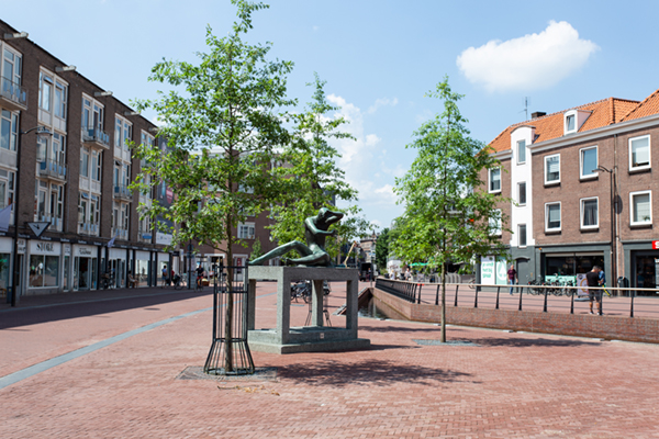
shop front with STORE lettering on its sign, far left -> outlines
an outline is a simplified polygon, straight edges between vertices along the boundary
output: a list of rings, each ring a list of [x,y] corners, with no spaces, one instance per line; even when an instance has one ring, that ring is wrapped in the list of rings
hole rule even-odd
[[[33,239],[30,240],[29,248],[27,289],[33,294],[47,294],[59,290],[62,244]]]

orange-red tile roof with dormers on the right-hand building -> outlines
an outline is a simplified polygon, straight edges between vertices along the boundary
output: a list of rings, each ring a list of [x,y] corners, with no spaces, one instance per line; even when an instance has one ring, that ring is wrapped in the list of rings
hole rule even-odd
[[[550,140],[563,135],[563,113],[570,110],[585,110],[592,112],[579,128],[579,133],[601,128],[623,121],[630,121],[638,117],[659,113],[659,90],[655,91],[643,102],[628,99],[608,98],[601,101],[574,106],[557,113],[533,119],[530,121],[520,122],[505,128],[490,146],[495,151],[511,149],[511,133],[520,126],[535,126],[536,138],[534,143]]]

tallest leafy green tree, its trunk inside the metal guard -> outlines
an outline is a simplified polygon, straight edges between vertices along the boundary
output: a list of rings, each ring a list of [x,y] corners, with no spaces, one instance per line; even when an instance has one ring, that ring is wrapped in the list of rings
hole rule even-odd
[[[176,225],[172,246],[194,240],[223,251],[233,261],[238,223],[276,202],[281,188],[270,171],[277,145],[289,143],[281,109],[294,104],[287,98],[287,75],[292,63],[268,59],[270,44],[247,44],[243,36],[253,27],[252,14],[264,3],[232,0],[237,20],[227,36],[206,29],[208,53],[199,64],[164,59],[155,65],[150,81],[169,86],[155,100],[137,101],[138,111],[153,109],[164,123],[159,136],[168,151],[156,146],[135,146],[147,165],[134,188],[143,192],[166,182],[174,202],[165,207],[142,205],[142,216],[161,216]],[[228,270],[227,280],[233,282]],[[233,363],[233,299],[225,307],[225,372]]]

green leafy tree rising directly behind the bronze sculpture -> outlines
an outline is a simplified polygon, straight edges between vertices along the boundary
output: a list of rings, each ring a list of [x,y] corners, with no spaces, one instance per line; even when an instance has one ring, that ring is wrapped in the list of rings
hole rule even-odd
[[[271,206],[275,223],[269,227],[278,244],[293,240],[304,241],[304,219],[316,216],[321,207],[334,207],[336,201],[355,202],[357,191],[345,180],[345,172],[336,165],[339,153],[331,145],[336,139],[354,139],[339,128],[347,123],[343,116],[333,116],[339,108],[327,102],[325,81],[314,74],[312,101],[304,111],[292,115],[294,121],[292,139],[283,146],[278,177],[286,180],[282,200]],[[358,214],[357,205],[343,209],[346,216],[334,225],[340,240],[366,236],[371,224]],[[339,240],[330,239],[326,250],[337,255]]]

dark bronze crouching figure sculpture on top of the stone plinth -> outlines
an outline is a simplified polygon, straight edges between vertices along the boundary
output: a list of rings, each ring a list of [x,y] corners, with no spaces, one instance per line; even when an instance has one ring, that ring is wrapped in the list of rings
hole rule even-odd
[[[332,267],[332,258],[325,251],[325,238],[335,236],[336,230],[328,232],[327,229],[334,223],[338,223],[344,214],[333,212],[327,207],[319,211],[316,216],[310,216],[304,219],[304,237],[306,245],[293,240],[268,251],[260,258],[249,262],[250,266],[263,266],[266,261],[283,256],[291,250],[298,251],[301,257],[295,259],[282,259],[284,264],[298,264],[302,267]]]

